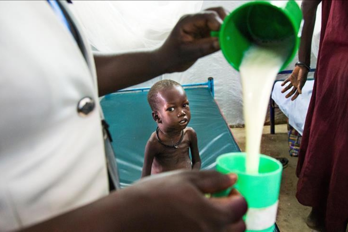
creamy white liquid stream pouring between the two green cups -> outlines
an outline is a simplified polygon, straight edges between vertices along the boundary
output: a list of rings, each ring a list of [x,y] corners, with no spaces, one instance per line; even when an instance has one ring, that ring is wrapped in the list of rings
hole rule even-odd
[[[243,114],[246,131],[246,172],[259,172],[260,145],[267,106],[274,80],[285,61],[283,46],[253,45],[246,51],[239,71],[243,87]]]

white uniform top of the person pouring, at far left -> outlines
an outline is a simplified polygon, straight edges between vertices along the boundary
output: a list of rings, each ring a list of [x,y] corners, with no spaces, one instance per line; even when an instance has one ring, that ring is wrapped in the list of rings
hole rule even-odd
[[[0,231],[108,194],[93,68],[46,1],[0,1]]]

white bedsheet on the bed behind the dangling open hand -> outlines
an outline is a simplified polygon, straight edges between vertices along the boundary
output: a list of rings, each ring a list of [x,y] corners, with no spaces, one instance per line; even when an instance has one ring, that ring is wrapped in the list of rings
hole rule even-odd
[[[312,96],[314,80],[306,81],[302,89],[302,94],[300,94],[295,101],[291,101],[291,97],[285,98],[285,95],[290,92],[291,89],[282,94],[281,91],[284,88],[280,86],[282,82],[283,81],[277,81],[274,84],[272,99],[286,117],[288,117],[289,124],[302,135],[309,101]]]

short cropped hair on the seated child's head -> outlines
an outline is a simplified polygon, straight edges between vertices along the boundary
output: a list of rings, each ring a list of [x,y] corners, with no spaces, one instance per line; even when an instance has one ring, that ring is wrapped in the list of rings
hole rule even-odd
[[[160,80],[156,82],[148,93],[148,102],[152,111],[158,110],[158,97],[157,94],[163,89],[172,88],[175,86],[181,86],[178,82],[173,80]]]

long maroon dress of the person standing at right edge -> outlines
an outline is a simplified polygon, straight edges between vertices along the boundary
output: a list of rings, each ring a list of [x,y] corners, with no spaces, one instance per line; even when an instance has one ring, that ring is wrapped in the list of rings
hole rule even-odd
[[[296,198],[326,207],[327,231],[348,220],[348,1],[322,1],[313,94],[301,141]]]

